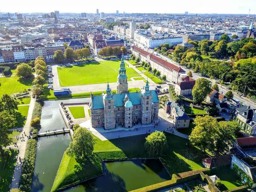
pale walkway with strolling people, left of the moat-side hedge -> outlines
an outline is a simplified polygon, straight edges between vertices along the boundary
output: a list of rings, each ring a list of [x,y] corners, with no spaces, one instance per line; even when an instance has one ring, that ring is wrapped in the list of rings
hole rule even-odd
[[[29,109],[28,109],[27,121],[23,127],[23,131],[21,132],[21,134],[24,135],[24,139],[23,140],[19,139],[17,142],[17,146],[18,146],[20,152],[17,156],[17,162],[16,162],[16,166],[15,166],[14,172],[13,172],[11,189],[19,187],[19,181],[20,181],[20,176],[21,176],[21,171],[22,171],[22,164],[23,164],[23,159],[25,156],[25,151],[26,151],[27,141],[28,141],[27,135],[29,135],[30,121],[32,119],[32,113],[33,113],[33,109],[35,107],[35,103],[36,103],[36,99],[31,97],[31,101],[30,101]],[[21,136],[20,136],[20,138],[21,138]]]

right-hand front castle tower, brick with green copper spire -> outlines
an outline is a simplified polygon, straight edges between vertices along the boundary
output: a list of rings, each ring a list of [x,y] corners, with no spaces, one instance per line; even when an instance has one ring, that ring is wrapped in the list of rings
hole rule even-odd
[[[141,92],[141,123],[149,124],[152,120],[152,93],[149,91],[148,80]]]

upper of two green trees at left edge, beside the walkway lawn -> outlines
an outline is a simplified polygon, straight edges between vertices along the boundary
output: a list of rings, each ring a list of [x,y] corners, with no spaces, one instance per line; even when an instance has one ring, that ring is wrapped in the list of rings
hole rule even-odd
[[[0,100],[0,112],[6,110],[10,114],[14,114],[18,110],[18,102],[10,95],[4,94]]]

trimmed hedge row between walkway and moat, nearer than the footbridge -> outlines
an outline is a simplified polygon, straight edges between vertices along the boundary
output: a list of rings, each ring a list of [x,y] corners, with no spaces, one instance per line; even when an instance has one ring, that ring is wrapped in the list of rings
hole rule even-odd
[[[32,179],[36,162],[36,140],[29,139],[20,177],[20,189],[25,192],[31,191]]]

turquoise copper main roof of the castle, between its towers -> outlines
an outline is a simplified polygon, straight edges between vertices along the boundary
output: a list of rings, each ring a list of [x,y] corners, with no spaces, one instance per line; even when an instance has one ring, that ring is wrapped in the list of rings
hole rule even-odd
[[[111,94],[107,97],[108,99],[114,99],[115,107],[123,107],[124,106],[124,98],[125,95],[128,95],[132,105],[140,105],[141,104],[141,92],[132,92],[132,93],[121,93],[121,94]],[[158,103],[158,95],[155,90],[150,90],[147,92],[148,95],[152,95],[153,103]],[[103,109],[103,97],[100,96],[93,96],[92,98],[92,108],[93,109]]]

